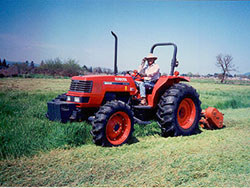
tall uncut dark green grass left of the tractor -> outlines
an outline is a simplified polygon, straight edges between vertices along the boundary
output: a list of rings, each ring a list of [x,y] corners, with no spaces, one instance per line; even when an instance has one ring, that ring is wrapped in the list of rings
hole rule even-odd
[[[46,119],[47,101],[54,97],[20,91],[0,93],[0,158],[91,143],[87,123],[62,124]]]

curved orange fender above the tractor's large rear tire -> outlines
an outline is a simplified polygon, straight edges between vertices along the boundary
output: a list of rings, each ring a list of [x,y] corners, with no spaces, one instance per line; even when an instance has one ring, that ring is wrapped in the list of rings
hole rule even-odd
[[[157,106],[163,93],[172,85],[181,81],[190,82],[189,77],[185,76],[161,76],[156,82],[152,94],[148,95],[148,105],[153,108]]]

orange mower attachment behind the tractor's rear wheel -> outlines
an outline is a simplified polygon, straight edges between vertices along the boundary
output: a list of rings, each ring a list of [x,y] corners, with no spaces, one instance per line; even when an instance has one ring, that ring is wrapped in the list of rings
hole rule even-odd
[[[223,115],[216,108],[208,107],[201,112],[200,126],[204,129],[221,129],[223,127]]]

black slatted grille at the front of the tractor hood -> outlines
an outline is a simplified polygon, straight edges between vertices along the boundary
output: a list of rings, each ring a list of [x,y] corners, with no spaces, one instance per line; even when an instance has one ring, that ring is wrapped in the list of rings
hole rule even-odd
[[[92,86],[92,81],[72,80],[70,85],[70,91],[91,93]]]

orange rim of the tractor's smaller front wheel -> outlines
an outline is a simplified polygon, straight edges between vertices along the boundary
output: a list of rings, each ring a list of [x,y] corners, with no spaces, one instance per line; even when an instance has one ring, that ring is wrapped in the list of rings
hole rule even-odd
[[[116,112],[108,120],[106,137],[113,145],[122,144],[129,136],[131,121],[125,112]]]

